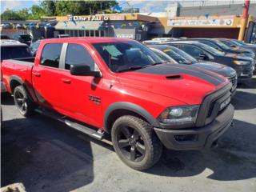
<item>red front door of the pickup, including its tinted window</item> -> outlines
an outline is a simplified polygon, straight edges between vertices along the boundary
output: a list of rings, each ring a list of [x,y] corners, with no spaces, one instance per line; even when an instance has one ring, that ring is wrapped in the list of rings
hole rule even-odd
[[[90,66],[99,71],[94,58],[86,46],[77,43],[65,45],[66,56],[62,65],[62,109],[72,118],[90,125],[100,126],[102,117],[102,78],[70,74],[70,66]]]

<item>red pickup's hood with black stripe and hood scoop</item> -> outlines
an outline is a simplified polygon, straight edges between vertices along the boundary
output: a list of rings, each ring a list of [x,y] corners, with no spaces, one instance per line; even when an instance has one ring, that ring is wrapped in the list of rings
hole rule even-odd
[[[206,94],[228,83],[218,74],[194,66],[166,63],[118,74],[123,86],[145,90],[190,105],[200,104]]]

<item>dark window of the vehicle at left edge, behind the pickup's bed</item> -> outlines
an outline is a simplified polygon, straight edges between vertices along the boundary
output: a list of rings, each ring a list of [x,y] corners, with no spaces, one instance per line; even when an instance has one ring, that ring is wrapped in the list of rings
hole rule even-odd
[[[1,46],[1,60],[30,57],[32,57],[32,54],[28,46]]]

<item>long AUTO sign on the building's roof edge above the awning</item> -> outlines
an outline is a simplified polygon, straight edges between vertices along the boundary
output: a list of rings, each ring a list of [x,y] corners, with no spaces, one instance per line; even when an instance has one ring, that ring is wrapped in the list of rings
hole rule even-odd
[[[73,16],[67,15],[68,21],[107,21],[107,20],[125,20],[122,14],[114,15],[94,15],[94,16]]]

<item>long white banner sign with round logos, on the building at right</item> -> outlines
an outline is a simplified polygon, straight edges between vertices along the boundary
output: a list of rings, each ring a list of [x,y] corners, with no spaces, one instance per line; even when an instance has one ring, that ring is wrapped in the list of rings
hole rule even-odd
[[[233,26],[233,18],[169,19],[167,26]]]

